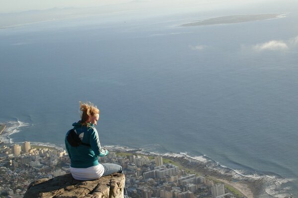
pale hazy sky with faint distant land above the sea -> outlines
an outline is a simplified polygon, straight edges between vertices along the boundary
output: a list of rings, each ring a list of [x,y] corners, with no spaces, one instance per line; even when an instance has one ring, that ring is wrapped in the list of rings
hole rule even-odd
[[[126,20],[135,18],[151,18],[165,15],[176,15],[183,13],[206,13],[217,10],[218,15],[210,17],[238,14],[263,14],[267,13],[262,5],[266,0],[112,0],[112,1],[43,1],[36,3],[36,0],[29,2],[18,0],[4,1],[0,4],[0,28],[11,28],[37,22],[48,22],[53,20],[66,20],[72,18],[82,18],[87,16],[124,16]],[[271,0],[271,10],[280,11],[279,2]],[[268,2],[266,2],[268,4]],[[17,6],[16,6],[17,5]],[[293,9],[298,2],[294,0],[283,1],[283,13]],[[222,13],[222,14],[221,14]],[[278,13],[278,12],[277,12]],[[199,18],[200,19],[200,18]],[[198,19],[198,20],[199,20]],[[205,18],[206,19],[206,18]]]

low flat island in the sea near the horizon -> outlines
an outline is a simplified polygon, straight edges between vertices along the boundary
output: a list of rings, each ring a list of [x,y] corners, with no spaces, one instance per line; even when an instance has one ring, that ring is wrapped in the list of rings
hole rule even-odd
[[[232,15],[232,16],[221,16],[215,18],[209,18],[204,20],[198,20],[190,23],[180,25],[180,27],[191,27],[201,25],[219,25],[219,24],[231,24],[231,23],[242,23],[249,21],[260,21],[266,19],[280,18],[284,14],[244,14],[244,15]]]

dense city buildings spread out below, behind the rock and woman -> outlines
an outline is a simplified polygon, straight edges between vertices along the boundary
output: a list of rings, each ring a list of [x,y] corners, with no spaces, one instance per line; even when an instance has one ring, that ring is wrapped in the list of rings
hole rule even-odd
[[[162,156],[111,151],[100,163],[124,168],[126,187],[132,198],[233,198],[224,184],[190,174]],[[0,143],[0,197],[22,198],[31,182],[69,173],[65,150],[31,145],[30,142]]]

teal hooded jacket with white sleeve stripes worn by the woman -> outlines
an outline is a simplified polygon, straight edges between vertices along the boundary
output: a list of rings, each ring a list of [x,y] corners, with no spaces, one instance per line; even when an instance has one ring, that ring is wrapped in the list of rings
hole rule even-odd
[[[88,168],[98,165],[98,157],[103,157],[109,153],[105,148],[101,148],[98,138],[98,133],[93,124],[84,126],[80,121],[73,124],[74,130],[83,143],[91,145],[79,145],[72,147],[65,137],[66,150],[71,158],[71,167],[73,168]]]

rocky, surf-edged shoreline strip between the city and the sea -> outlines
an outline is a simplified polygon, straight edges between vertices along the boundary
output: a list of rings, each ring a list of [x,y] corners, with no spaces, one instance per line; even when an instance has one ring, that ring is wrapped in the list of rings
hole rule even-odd
[[[7,144],[12,144],[13,140],[9,138],[9,136],[13,133],[17,133],[20,131],[21,127],[26,127],[29,123],[24,123],[20,121],[1,123],[2,125],[6,125],[5,130],[0,136],[0,141],[3,141]],[[16,142],[14,144],[17,144]],[[38,146],[47,146],[52,148],[57,148],[59,150],[65,149],[64,145],[57,145],[53,143],[40,143],[40,142],[31,142],[32,145]],[[288,183],[288,179],[284,179],[278,176],[271,176],[266,174],[258,174],[255,172],[247,172],[242,173],[238,170],[233,170],[231,168],[222,166],[218,162],[207,156],[189,156],[187,153],[155,153],[148,151],[142,148],[128,148],[121,147],[119,145],[106,146],[110,151],[120,151],[126,153],[134,153],[139,155],[148,155],[155,156],[161,155],[164,159],[168,159],[174,161],[175,163],[180,164],[183,169],[186,169],[190,172],[195,172],[198,175],[207,175],[208,179],[212,179],[214,181],[220,182],[224,180],[227,189],[235,189],[235,192],[239,192],[241,195],[247,198],[253,197],[262,197],[271,198],[276,197],[275,195],[280,195],[279,187],[276,184],[284,184]],[[166,163],[166,162],[165,162]],[[170,162],[171,163],[171,162]],[[173,163],[174,164],[174,163]],[[222,182],[222,181],[221,181]],[[252,195],[252,197],[251,197]],[[281,194],[278,196],[279,198],[284,198],[286,195],[290,194]],[[239,196],[242,197],[242,196]]]

